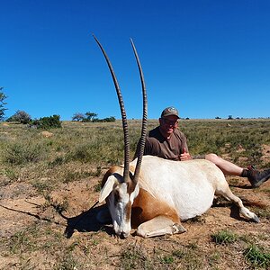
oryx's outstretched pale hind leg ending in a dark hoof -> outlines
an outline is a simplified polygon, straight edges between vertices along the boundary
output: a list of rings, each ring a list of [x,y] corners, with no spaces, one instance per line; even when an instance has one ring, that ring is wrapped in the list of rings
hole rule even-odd
[[[259,222],[260,220],[258,219],[257,215],[252,212],[249,211],[244,205],[243,202],[241,201],[240,198],[238,198],[238,196],[236,196],[235,194],[233,194],[230,189],[229,189],[229,184],[222,184],[221,186],[222,188],[218,188],[215,192],[215,194],[217,195],[221,195],[223,196],[226,200],[235,203],[238,208],[240,213],[246,217],[248,220],[253,220],[255,222]]]

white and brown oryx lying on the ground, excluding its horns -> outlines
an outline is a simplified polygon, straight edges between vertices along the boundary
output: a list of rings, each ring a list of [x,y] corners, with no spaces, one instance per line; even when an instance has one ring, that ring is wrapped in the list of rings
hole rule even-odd
[[[131,173],[136,162],[137,159],[130,163]],[[211,207],[214,195],[236,203],[247,219],[258,221],[231,193],[225,176],[210,161],[144,156],[139,181],[133,188],[122,183],[122,172],[123,168],[116,166],[104,176],[100,197],[100,201],[107,197],[113,229],[118,235],[127,237],[131,227],[138,228],[137,234],[145,238],[184,232],[181,220],[202,215]]]

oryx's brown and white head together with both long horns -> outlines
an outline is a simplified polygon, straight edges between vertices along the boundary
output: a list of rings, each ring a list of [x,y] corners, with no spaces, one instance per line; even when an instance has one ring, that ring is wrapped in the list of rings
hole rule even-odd
[[[142,128],[141,128],[141,137],[139,145],[139,154],[137,159],[137,165],[133,173],[130,172],[130,143],[129,143],[129,132],[128,132],[128,121],[126,118],[126,112],[124,109],[124,103],[121,96],[121,90],[117,82],[116,76],[112,69],[112,64],[107,57],[103,46],[101,43],[94,37],[100,49],[103,52],[103,56],[106,59],[107,65],[110,69],[112,80],[115,86],[115,90],[118,96],[118,101],[121,109],[121,119],[122,127],[124,132],[124,167],[112,167],[106,175],[103,177],[103,189],[100,193],[99,201],[103,202],[106,199],[108,204],[111,217],[112,225],[115,233],[118,236],[127,238],[130,235],[130,217],[131,217],[131,206],[134,199],[139,193],[139,169],[141,165],[142,155],[144,151],[145,139],[146,139],[146,130],[147,130],[147,95],[146,87],[144,83],[144,77],[142,69],[139,63],[139,57],[135,49],[134,43],[132,40],[131,45],[133,52],[135,54],[137,65],[139,67],[139,76],[142,86],[143,94],[143,115],[142,115]]]

